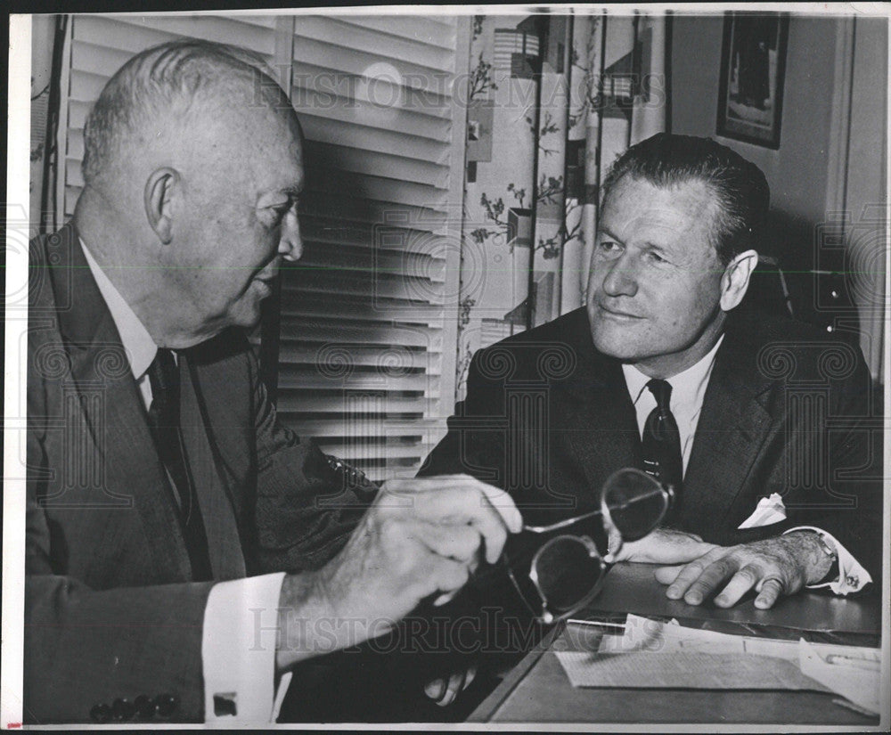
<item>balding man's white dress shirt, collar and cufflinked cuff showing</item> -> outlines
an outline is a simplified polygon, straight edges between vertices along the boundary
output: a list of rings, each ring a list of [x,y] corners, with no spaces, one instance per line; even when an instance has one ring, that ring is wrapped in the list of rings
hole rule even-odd
[[[80,244],[148,409],[148,369],[158,346],[86,243]],[[277,718],[291,679],[290,672],[282,674],[276,692],[275,627],[283,579],[283,572],[235,579],[210,591],[201,639],[205,722],[269,723]]]

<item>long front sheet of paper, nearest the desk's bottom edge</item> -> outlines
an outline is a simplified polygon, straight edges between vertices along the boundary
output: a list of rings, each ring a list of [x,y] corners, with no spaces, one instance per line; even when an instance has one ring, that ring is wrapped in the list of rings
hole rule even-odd
[[[557,651],[574,687],[829,691],[781,658],[734,653]]]

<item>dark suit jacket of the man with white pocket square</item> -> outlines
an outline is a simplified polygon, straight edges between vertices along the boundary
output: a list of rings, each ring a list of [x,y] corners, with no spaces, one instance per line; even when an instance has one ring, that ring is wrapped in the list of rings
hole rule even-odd
[[[734,312],[703,400],[683,503],[668,523],[723,545],[813,525],[879,581],[880,402],[860,350],[804,324]],[[527,521],[597,507],[611,472],[641,466],[621,364],[584,309],[480,350],[467,398],[422,475],[468,472],[507,489]],[[779,493],[788,519],[737,530]]]

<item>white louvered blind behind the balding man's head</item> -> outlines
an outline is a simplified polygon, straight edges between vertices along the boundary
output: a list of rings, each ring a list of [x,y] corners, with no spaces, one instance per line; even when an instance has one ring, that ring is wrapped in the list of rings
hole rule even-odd
[[[71,23],[63,214],[83,126],[138,51],[175,37],[291,62],[307,137],[304,256],[282,274],[282,421],[375,479],[411,474],[454,396],[466,19],[407,15],[78,15]],[[282,38],[288,44],[282,56]],[[67,119],[65,117],[67,116]]]

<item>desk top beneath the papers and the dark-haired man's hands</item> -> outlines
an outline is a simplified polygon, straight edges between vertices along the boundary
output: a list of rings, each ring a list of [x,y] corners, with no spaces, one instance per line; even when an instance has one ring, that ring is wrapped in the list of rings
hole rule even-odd
[[[579,617],[621,618],[628,612],[683,618],[687,625],[722,632],[735,628],[748,635],[792,638],[809,630],[818,632],[806,636],[814,641],[879,645],[878,595],[843,600],[802,593],[781,600],[772,610],[756,609],[751,599],[729,610],[692,607],[668,600],[649,565],[620,564],[610,571],[601,596]],[[575,648],[580,641],[584,644],[585,635],[598,634],[580,626],[555,628],[478,706],[469,722],[879,724],[878,717],[839,706],[835,697],[820,692],[575,689],[554,649]]]

